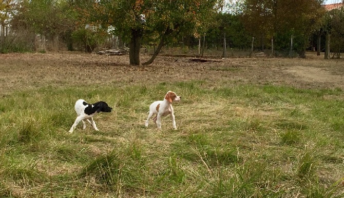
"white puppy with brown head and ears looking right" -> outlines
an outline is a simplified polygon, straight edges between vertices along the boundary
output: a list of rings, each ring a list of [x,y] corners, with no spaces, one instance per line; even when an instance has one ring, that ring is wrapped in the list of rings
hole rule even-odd
[[[149,119],[156,115],[153,118],[154,123],[157,123],[158,129],[161,129],[161,116],[171,115],[173,128],[177,129],[176,127],[176,120],[175,114],[172,107],[172,102],[180,101],[182,97],[176,95],[173,91],[168,91],[165,95],[163,101],[156,101],[149,106],[149,115],[146,120],[146,127],[148,127]]]

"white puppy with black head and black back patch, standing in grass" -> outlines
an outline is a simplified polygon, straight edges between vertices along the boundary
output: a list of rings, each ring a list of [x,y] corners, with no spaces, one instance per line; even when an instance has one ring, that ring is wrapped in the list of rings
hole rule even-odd
[[[77,112],[78,117],[77,117],[77,120],[75,120],[72,127],[69,129],[69,132],[72,133],[80,121],[83,122],[83,129],[85,129],[86,128],[86,125],[84,122],[85,119],[88,123],[90,123],[93,126],[94,130],[99,131],[97,126],[95,126],[95,123],[93,121],[93,116],[99,112],[111,112],[111,109],[112,108],[109,107],[103,101],[99,101],[93,104],[88,104],[86,103],[86,101],[79,99],[75,103],[75,112]],[[91,118],[91,121],[89,120],[89,118]]]

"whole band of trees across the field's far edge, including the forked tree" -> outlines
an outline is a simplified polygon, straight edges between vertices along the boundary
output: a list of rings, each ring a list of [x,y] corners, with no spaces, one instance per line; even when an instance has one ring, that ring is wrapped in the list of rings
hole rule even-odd
[[[130,49],[130,64],[150,64],[163,46],[269,51],[333,57],[344,43],[344,9],[326,11],[323,0],[3,0],[0,52]],[[142,20],[144,16],[144,20]],[[331,39],[330,39],[331,38]],[[224,43],[225,41],[225,43]],[[115,46],[116,44],[116,46]],[[140,63],[142,46],[154,46]]]

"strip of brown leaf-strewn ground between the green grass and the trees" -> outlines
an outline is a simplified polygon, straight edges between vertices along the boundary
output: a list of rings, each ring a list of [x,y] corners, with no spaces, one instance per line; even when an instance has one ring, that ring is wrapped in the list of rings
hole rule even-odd
[[[141,55],[142,62],[149,56]],[[322,58],[224,58],[193,63],[192,57],[158,56],[149,66],[130,66],[128,56],[83,53],[1,54],[1,92],[44,86],[155,84],[189,80],[343,87],[342,60]],[[215,60],[215,59],[214,59]]]

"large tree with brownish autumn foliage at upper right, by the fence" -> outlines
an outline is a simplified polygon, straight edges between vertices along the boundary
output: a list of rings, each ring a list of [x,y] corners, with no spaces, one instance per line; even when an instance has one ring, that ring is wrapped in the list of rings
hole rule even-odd
[[[296,34],[302,43],[298,53],[305,56],[308,38],[318,27],[324,13],[323,0],[244,0],[241,5],[242,21],[254,36]]]

